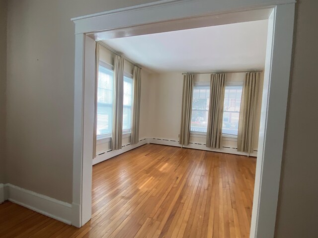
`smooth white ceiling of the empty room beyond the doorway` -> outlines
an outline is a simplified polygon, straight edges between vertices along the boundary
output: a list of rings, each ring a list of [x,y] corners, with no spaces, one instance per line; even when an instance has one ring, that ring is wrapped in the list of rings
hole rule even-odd
[[[152,71],[263,69],[267,20],[104,40]]]

